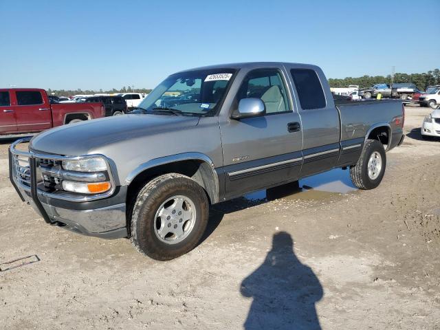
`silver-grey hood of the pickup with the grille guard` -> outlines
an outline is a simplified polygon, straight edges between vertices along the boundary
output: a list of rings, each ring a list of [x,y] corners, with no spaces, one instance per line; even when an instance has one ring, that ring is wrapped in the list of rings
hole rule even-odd
[[[198,122],[198,117],[176,115],[118,115],[50,129],[34,136],[30,148],[57,155],[87,155],[113,142],[186,129]]]

